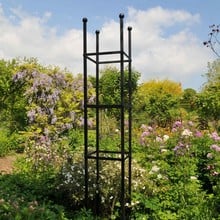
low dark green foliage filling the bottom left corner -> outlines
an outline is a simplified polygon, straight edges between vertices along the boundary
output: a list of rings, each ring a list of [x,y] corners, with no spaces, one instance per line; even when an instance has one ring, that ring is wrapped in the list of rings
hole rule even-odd
[[[22,174],[0,175],[0,218],[2,220],[67,220],[62,206],[48,200],[47,185]],[[45,183],[45,182],[44,182]]]

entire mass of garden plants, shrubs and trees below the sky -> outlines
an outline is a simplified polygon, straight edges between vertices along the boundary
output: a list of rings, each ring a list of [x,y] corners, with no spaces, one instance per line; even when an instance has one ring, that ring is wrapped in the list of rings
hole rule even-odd
[[[219,60],[209,64],[201,91],[170,80],[140,84],[134,71],[131,219],[220,219],[219,70]],[[117,100],[117,73],[103,69],[105,102]],[[94,91],[91,76],[91,103]],[[117,161],[101,164],[98,216],[89,163],[85,208],[82,76],[36,59],[1,60],[0,100],[0,156],[18,158],[11,173],[0,174],[0,220],[119,219]],[[89,112],[91,139],[94,115]],[[102,117],[101,143],[111,149],[120,135],[117,112]]]

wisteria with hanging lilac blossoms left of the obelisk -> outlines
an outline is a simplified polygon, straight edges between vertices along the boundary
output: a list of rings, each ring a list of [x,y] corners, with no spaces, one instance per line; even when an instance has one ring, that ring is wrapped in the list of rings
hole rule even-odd
[[[82,77],[73,78],[59,71],[48,73],[24,69],[13,76],[13,81],[25,85],[29,128],[24,135],[27,137],[28,157],[35,166],[56,163],[59,157],[56,148],[62,142],[62,134],[82,121]],[[93,93],[90,93],[89,97],[92,97]],[[66,156],[60,151],[60,157]]]

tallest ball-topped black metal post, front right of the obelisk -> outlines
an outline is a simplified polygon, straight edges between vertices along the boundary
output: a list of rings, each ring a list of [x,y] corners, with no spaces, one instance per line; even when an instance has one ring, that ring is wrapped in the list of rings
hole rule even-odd
[[[125,219],[125,141],[124,141],[124,15],[120,14],[120,74],[121,74],[121,219]]]

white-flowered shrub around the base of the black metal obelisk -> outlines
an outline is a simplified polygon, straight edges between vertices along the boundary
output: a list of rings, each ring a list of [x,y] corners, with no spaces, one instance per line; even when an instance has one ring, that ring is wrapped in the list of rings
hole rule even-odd
[[[75,153],[72,161],[68,161],[62,168],[60,173],[59,190],[69,192],[71,203],[77,205],[84,200],[85,179],[84,179],[84,162],[83,153]],[[96,179],[96,163],[90,161],[88,164],[88,185],[89,199],[93,201],[97,193],[99,193],[101,203],[105,208],[116,206],[120,201],[120,184],[121,184],[121,164],[118,161],[103,161],[100,166],[99,181]],[[127,187],[128,178],[126,170],[125,184]],[[145,191],[149,190],[146,184],[147,172],[141,168],[136,160],[132,161],[132,190]],[[139,201],[135,200],[131,206],[138,205]]]

